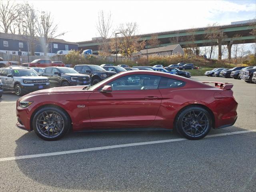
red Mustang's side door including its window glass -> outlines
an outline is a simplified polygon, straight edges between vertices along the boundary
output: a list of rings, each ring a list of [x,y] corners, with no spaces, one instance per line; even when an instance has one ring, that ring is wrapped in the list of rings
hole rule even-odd
[[[140,83],[129,82],[134,78]],[[108,84],[111,92],[94,91],[88,98],[92,127],[151,126],[162,100],[159,81],[159,76],[127,75]]]

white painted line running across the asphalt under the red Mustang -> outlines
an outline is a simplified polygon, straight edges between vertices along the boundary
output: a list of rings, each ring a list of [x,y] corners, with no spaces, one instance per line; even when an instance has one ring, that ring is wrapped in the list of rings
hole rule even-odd
[[[256,130],[236,131],[236,132],[213,134],[213,135],[208,135],[206,137],[219,137],[219,136],[242,134],[242,133],[249,133],[249,132],[255,132],[255,131]],[[97,151],[97,150],[113,149],[113,148],[121,148],[121,147],[131,147],[131,146],[140,146],[140,145],[148,145],[148,144],[168,143],[168,142],[176,142],[176,141],[183,141],[183,140],[187,140],[187,139],[186,138],[178,138],[178,139],[169,139],[169,140],[160,140],[160,141],[149,141],[149,142],[140,142],[140,143],[128,143],[128,144],[120,144],[120,145],[111,145],[111,146],[104,146],[104,147],[94,147],[94,148],[78,149],[78,150],[70,150],[70,151],[60,151],[60,152],[53,152],[53,153],[42,153],[42,154],[34,154],[34,155],[6,157],[6,158],[0,158],[0,162],[1,161],[18,160],[18,159],[35,158],[35,157],[46,157],[46,156],[54,156],[54,155],[81,153],[81,152]]]

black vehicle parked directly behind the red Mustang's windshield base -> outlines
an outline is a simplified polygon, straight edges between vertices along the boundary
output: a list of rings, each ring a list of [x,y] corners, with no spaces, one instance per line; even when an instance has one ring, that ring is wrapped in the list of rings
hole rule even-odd
[[[104,68],[98,65],[75,65],[74,70],[81,74],[88,74],[92,79],[92,85],[115,75],[116,72],[106,71]]]

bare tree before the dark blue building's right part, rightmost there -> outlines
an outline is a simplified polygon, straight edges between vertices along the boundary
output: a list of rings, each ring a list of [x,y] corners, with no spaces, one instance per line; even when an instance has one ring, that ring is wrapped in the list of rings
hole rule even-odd
[[[41,15],[36,20],[36,32],[38,36],[42,38],[42,44],[44,45],[44,55],[47,54],[48,43],[58,36],[64,33],[56,34],[58,25],[54,24],[54,20],[51,16],[51,12],[41,12]]]

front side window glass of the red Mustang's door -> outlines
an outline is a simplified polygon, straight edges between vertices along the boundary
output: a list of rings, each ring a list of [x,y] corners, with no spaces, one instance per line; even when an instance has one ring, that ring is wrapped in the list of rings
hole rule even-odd
[[[157,89],[159,76],[153,75],[129,75],[109,83],[112,90],[150,90]]]

